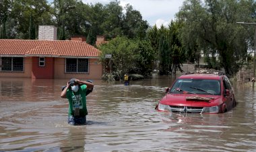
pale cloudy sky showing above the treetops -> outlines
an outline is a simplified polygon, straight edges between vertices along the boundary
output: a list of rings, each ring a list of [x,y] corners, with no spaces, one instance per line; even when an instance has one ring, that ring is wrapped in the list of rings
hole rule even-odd
[[[102,3],[103,5],[113,0],[83,0],[84,3]],[[150,26],[160,27],[162,24],[168,26],[174,19],[175,13],[185,0],[120,0],[120,4],[125,6],[127,3],[133,6],[133,9],[139,11],[143,20],[147,20]]]

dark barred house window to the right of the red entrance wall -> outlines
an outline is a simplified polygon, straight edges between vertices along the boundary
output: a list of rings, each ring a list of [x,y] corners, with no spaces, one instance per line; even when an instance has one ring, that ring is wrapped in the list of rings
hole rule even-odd
[[[67,73],[88,73],[89,60],[88,59],[66,59]]]

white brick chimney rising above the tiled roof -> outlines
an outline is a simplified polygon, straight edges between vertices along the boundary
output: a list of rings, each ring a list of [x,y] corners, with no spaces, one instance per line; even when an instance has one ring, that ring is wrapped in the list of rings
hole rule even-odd
[[[39,26],[38,40],[57,40],[57,28],[55,26]]]

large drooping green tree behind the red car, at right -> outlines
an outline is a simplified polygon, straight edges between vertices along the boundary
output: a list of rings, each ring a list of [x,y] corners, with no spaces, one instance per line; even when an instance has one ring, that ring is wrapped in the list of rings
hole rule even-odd
[[[253,1],[187,0],[177,13],[184,22],[183,44],[191,54],[220,55],[219,62],[227,75],[234,75],[247,56],[248,33],[239,21],[252,21]],[[214,58],[213,58],[214,61]]]

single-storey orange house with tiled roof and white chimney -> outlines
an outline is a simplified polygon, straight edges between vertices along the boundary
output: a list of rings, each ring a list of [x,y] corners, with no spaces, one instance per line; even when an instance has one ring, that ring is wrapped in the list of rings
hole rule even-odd
[[[0,77],[101,79],[100,50],[82,36],[55,40],[56,31],[40,26],[38,40],[0,39]]]

